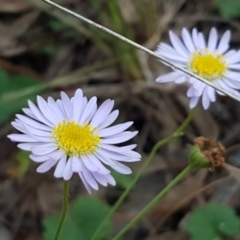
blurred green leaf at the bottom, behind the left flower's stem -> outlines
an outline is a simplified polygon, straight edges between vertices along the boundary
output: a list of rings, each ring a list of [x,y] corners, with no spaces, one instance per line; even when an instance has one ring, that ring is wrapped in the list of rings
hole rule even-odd
[[[110,211],[110,207],[96,197],[81,197],[69,208],[59,240],[89,240]],[[44,240],[54,239],[60,213],[44,220]],[[108,221],[101,229],[98,239],[110,236],[112,223]]]

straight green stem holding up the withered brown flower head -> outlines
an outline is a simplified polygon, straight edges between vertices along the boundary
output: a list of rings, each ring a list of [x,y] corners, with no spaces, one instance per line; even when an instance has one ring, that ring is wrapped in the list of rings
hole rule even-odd
[[[112,240],[117,240],[123,236],[144,214],[159,202],[174,186],[176,186],[188,173],[194,168],[188,165],[181,173],[177,175],[131,222],[129,222]]]

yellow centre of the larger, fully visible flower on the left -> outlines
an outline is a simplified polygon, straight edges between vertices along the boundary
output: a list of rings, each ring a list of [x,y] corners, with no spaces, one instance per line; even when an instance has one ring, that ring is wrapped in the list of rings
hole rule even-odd
[[[81,126],[64,120],[53,128],[52,134],[59,149],[68,156],[81,156],[96,150],[100,136],[94,133],[95,130],[89,124]]]

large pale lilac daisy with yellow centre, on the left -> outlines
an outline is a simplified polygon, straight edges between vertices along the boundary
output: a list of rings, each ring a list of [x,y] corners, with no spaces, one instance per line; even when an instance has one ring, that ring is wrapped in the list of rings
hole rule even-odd
[[[20,142],[19,148],[32,152],[33,161],[41,163],[37,172],[47,172],[56,165],[54,176],[64,180],[76,172],[90,193],[99,183],[115,185],[106,166],[130,174],[131,169],[120,162],[140,161],[140,154],[133,151],[135,144],[114,145],[133,138],[137,131],[125,131],[133,122],[109,127],[119,114],[118,110],[112,111],[113,100],[97,108],[97,98],[88,101],[78,89],[72,98],[61,92],[57,101],[38,96],[37,104],[29,101],[29,108],[23,109],[27,116],[17,114],[12,122],[23,134],[8,135]]]

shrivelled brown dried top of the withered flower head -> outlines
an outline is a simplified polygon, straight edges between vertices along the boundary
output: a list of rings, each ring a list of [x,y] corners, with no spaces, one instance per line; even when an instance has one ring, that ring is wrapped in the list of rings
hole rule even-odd
[[[199,147],[206,160],[210,164],[210,169],[222,167],[226,161],[226,149],[214,138],[198,137],[194,139],[194,145]]]

